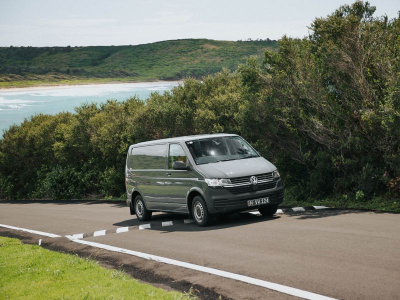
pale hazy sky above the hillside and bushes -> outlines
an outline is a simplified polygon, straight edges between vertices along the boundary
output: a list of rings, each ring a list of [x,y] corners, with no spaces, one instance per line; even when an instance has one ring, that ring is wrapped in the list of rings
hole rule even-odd
[[[346,0],[0,0],[0,46],[142,44],[178,38],[303,37]],[[395,17],[400,0],[371,0]]]

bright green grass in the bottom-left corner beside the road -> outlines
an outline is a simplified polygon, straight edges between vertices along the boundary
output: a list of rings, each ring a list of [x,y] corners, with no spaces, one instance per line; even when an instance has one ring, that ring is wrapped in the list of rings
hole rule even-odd
[[[0,236],[0,299],[187,299],[94,260]]]

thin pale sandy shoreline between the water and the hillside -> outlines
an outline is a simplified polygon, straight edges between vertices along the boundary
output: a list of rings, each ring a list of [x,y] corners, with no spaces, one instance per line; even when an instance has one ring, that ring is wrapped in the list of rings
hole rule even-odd
[[[10,86],[10,87],[0,87],[0,92],[1,91],[7,91],[7,90],[13,90],[13,91],[18,91],[18,90],[35,90],[35,89],[47,89],[47,88],[62,88],[62,87],[69,87],[69,86],[77,86],[77,85],[99,85],[99,84],[116,84],[116,83],[170,83],[170,82],[178,82],[178,83],[183,83],[184,79],[179,79],[179,80],[140,80],[140,81],[133,81],[133,80],[127,80],[127,81],[99,81],[99,82],[89,82],[85,81],[84,79],[81,82],[73,82],[73,83],[59,83],[56,82],[55,84],[51,84],[50,82],[46,84],[37,84],[37,85],[28,85],[28,86],[21,86],[21,87],[15,87],[15,86]]]

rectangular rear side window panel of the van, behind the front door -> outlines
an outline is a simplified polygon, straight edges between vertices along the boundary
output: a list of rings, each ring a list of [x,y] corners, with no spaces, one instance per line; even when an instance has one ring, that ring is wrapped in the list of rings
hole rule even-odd
[[[149,145],[132,149],[130,168],[136,170],[164,169],[165,144]]]

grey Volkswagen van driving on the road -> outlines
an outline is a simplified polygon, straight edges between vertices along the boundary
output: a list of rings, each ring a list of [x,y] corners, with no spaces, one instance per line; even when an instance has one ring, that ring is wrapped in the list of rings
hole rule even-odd
[[[130,213],[186,213],[199,226],[212,215],[258,209],[273,215],[283,201],[276,167],[236,134],[201,134],[129,146],[125,185]]]

